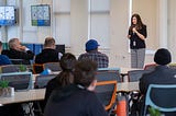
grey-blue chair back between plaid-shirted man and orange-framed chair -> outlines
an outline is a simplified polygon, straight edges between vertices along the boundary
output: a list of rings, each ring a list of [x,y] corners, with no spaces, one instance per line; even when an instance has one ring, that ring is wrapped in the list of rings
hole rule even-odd
[[[122,82],[119,70],[98,70],[96,74],[97,81],[110,81],[116,80]]]

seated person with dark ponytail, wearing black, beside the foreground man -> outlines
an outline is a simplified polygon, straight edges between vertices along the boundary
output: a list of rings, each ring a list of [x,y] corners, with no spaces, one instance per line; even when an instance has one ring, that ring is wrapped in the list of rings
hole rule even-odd
[[[75,63],[76,57],[74,55],[69,53],[63,55],[63,57],[61,58],[61,67],[63,70],[56,78],[52,79],[47,83],[44,100],[45,103],[47,102],[54,89],[64,88],[70,83],[74,83],[73,69],[75,68]]]

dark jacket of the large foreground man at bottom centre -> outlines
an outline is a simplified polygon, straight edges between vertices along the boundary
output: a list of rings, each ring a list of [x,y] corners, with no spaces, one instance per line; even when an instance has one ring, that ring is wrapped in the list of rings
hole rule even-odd
[[[94,92],[70,84],[53,91],[44,116],[108,116]]]

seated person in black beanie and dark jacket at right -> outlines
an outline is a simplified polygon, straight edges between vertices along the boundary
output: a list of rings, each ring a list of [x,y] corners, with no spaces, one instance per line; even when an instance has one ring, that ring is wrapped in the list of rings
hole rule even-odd
[[[176,84],[176,70],[167,67],[172,61],[170,53],[165,48],[158,49],[155,53],[154,61],[157,63],[154,71],[143,74],[140,79],[140,91],[143,95],[146,94],[150,84]],[[142,106],[143,105],[144,101]],[[165,114],[165,116],[176,116],[176,113],[174,115],[168,113]]]

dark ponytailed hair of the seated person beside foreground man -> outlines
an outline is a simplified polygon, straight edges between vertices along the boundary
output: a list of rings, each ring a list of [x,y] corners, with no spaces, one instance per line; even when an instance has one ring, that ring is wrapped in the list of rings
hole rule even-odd
[[[61,67],[63,71],[56,77],[58,84],[61,84],[62,88],[74,83],[74,73],[73,70],[76,65],[76,57],[70,54],[64,54],[61,58]]]

